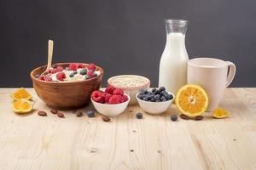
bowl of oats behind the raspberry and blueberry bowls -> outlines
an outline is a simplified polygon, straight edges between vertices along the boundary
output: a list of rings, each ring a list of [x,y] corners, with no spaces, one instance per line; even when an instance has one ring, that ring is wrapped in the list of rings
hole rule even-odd
[[[130,96],[129,105],[137,105],[136,94],[141,89],[150,87],[150,81],[147,77],[137,75],[119,75],[108,78],[108,85],[114,88],[123,88],[125,94]]]

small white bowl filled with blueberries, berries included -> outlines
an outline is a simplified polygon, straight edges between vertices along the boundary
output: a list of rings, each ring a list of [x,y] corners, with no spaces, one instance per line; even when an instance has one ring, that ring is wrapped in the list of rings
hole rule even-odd
[[[174,94],[167,92],[166,88],[143,89],[136,95],[137,102],[143,111],[149,114],[160,114],[167,111],[172,105]]]

